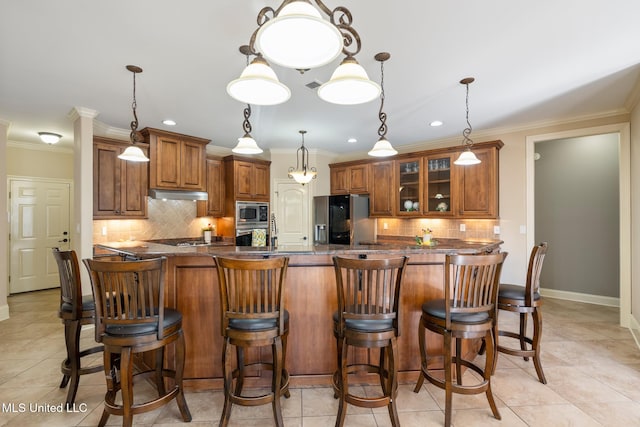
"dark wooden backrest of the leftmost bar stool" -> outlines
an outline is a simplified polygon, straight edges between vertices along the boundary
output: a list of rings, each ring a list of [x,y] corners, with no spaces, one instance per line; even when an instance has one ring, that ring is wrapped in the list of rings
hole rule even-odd
[[[60,313],[68,313],[72,319],[79,319],[82,316],[82,284],[76,252],[53,248],[53,257],[60,276]],[[63,310],[63,306],[70,310]]]

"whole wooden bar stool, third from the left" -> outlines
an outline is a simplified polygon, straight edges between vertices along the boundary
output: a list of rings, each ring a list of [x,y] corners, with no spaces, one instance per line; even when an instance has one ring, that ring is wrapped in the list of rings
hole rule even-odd
[[[271,403],[277,426],[284,425],[280,396],[289,397],[289,373],[285,369],[289,312],[284,309],[284,284],[288,257],[237,259],[214,257],[220,286],[224,407],[220,426],[227,426],[232,404],[256,406]],[[246,363],[244,352],[271,346],[272,362]],[[237,368],[232,348],[236,348]],[[260,396],[242,394],[249,369],[272,371],[271,390]],[[236,379],[235,387],[233,380]]]

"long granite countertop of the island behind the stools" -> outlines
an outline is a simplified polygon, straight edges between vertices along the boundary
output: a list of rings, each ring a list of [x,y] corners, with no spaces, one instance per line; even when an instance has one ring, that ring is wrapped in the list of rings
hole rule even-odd
[[[462,239],[434,239],[435,244],[419,246],[406,242],[369,242],[359,245],[280,245],[277,248],[269,246],[230,246],[230,245],[202,245],[202,246],[171,246],[146,241],[105,242],[96,246],[122,255],[148,258],[157,255],[173,256],[212,256],[212,255],[327,255],[349,252],[359,253],[435,253],[435,254],[476,254],[490,252],[500,247],[502,240],[462,240]]]

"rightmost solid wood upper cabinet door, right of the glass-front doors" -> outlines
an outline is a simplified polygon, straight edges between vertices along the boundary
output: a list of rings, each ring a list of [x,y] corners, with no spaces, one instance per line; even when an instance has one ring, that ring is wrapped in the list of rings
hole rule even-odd
[[[473,218],[498,217],[498,153],[497,149],[474,149],[477,165],[456,166],[459,176],[458,216]],[[459,154],[459,153],[458,153]]]

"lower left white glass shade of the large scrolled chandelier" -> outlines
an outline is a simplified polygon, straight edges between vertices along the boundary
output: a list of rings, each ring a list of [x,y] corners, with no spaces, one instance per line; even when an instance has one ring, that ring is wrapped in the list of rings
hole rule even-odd
[[[240,78],[227,85],[232,98],[254,105],[277,105],[291,97],[291,91],[280,83],[278,76],[260,56],[242,71]]]

